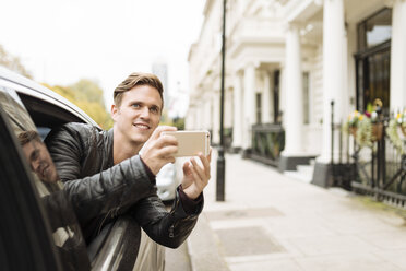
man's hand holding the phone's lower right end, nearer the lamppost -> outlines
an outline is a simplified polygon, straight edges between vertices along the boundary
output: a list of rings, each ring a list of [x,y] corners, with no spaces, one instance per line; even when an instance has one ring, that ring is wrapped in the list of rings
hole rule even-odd
[[[212,149],[207,156],[199,153],[199,158],[202,165],[199,165],[194,157],[183,164],[183,179],[181,184],[183,192],[192,200],[201,195],[211,178],[210,162],[212,158]]]

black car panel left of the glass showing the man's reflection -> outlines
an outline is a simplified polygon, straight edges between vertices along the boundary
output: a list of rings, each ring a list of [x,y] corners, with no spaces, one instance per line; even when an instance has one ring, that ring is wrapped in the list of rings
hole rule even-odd
[[[9,246],[2,249],[8,257],[4,259],[7,262],[2,262],[1,267],[10,267],[11,270],[62,270],[45,210],[33,186],[34,179],[29,166],[8,115],[1,107],[0,142],[5,143],[0,153],[1,208],[8,209],[2,212],[1,227],[7,227],[7,231],[1,231],[1,239],[2,244]],[[14,212],[10,211],[12,208]],[[12,214],[5,215],[7,212]],[[15,245],[17,245],[16,249],[10,248]]]

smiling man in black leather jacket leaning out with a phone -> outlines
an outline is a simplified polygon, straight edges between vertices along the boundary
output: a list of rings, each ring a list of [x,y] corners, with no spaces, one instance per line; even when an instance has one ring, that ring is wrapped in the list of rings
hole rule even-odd
[[[210,155],[183,165],[183,179],[167,212],[156,195],[155,175],[174,163],[177,141],[158,127],[164,101],[158,78],[132,73],[116,90],[109,131],[68,123],[46,139],[84,237],[89,243],[108,221],[132,215],[156,243],[178,247],[194,227],[210,179]],[[142,150],[142,154],[139,152]]]

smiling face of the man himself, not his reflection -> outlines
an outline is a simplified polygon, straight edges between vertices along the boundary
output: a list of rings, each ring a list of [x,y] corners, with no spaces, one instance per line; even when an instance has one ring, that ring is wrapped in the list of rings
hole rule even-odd
[[[144,144],[159,123],[162,107],[163,101],[155,87],[134,86],[123,93],[119,107],[111,108],[115,131],[128,143]]]

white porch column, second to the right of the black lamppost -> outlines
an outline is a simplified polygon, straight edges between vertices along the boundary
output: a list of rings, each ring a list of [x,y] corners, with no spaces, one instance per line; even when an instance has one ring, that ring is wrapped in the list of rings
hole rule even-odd
[[[243,76],[243,136],[242,149],[248,150],[252,146],[252,125],[255,122],[255,67],[248,63]]]

